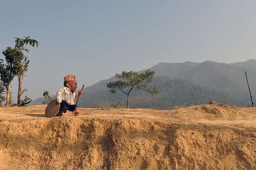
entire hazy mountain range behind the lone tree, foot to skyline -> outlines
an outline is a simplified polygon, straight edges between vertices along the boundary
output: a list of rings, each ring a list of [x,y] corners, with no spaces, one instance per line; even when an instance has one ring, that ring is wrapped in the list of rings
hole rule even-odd
[[[171,109],[174,106],[202,104],[210,100],[231,106],[250,106],[244,70],[248,71],[254,96],[256,94],[254,64],[256,64],[254,59],[233,64],[212,61],[156,64],[150,70],[156,72],[152,85],[160,89],[160,94],[150,96],[134,91],[130,106],[131,108]],[[79,106],[111,107],[118,101],[125,106],[126,95],[121,92],[112,95],[106,88],[108,82],[115,80],[115,77],[111,77],[85,88]],[[41,104],[42,101],[43,98],[37,99],[32,101],[31,105]]]

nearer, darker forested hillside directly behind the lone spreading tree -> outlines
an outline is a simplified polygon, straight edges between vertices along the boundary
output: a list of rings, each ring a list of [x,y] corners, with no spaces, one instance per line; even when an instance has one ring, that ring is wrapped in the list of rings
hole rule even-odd
[[[86,107],[111,107],[118,101],[121,106],[126,106],[126,95],[122,92],[110,94],[109,89],[102,82],[97,90],[85,91],[82,96],[80,106]],[[160,93],[151,96],[144,91],[134,91],[130,97],[131,108],[157,108],[171,109],[174,106],[186,104],[198,105],[207,103],[210,100],[216,100],[219,103],[242,106],[242,102],[236,97],[227,93],[221,93],[214,89],[204,88],[181,79],[170,79],[168,77],[158,76],[154,79],[152,86],[160,89]]]

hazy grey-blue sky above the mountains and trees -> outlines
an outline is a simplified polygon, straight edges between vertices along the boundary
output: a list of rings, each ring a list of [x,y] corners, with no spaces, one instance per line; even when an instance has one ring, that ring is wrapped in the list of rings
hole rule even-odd
[[[31,36],[25,95],[56,94],[63,77],[90,86],[159,62],[256,59],[255,0],[0,0],[0,50]],[[0,58],[3,58],[0,55]],[[17,101],[18,82],[12,82]]]

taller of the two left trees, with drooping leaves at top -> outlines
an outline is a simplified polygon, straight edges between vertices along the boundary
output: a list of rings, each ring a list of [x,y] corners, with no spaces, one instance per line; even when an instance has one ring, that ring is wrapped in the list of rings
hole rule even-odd
[[[31,39],[30,36],[24,36],[23,38],[18,38],[15,37],[15,49],[21,51],[25,51],[25,52],[29,52],[29,49],[27,49],[24,45],[30,45],[32,47],[37,46],[38,47],[38,41]],[[25,72],[28,70],[28,64],[29,64],[29,59],[27,56],[25,56],[23,53],[20,56],[17,56],[18,58],[21,58],[21,60],[19,60],[20,62],[17,63],[17,72],[18,72],[18,77],[19,77],[19,88],[18,88],[18,102],[17,105],[20,106],[21,105],[21,95],[24,92],[24,90],[22,90],[22,83],[23,83],[23,77],[25,75]]]

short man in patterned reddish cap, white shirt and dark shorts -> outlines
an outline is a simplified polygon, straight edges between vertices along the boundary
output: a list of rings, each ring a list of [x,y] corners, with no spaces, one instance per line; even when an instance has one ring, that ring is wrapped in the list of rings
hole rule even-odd
[[[67,110],[75,111],[75,116],[78,116],[80,112],[78,111],[77,105],[75,105],[75,97],[82,94],[82,91],[75,93],[77,88],[77,82],[74,75],[68,75],[64,77],[64,87],[60,88],[57,92],[57,103],[61,104],[60,111],[56,116],[62,116]]]

